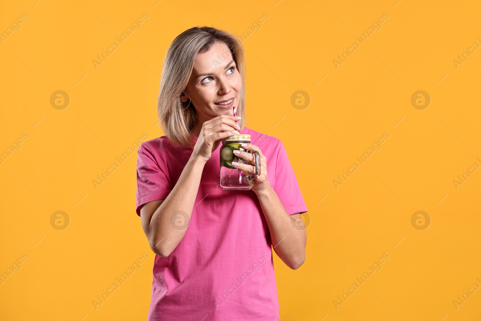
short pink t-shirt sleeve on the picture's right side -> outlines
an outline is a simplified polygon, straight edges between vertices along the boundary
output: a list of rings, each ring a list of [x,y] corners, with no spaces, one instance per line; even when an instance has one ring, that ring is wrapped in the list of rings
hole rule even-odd
[[[274,191],[289,215],[307,212],[304,198],[282,141],[277,145]]]

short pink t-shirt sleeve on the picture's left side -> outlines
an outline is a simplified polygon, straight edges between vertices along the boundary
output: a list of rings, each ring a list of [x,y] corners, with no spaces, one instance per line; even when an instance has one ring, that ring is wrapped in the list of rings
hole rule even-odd
[[[137,154],[136,211],[140,216],[140,206],[148,202],[164,200],[172,189],[145,142],[140,145]]]

